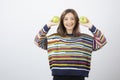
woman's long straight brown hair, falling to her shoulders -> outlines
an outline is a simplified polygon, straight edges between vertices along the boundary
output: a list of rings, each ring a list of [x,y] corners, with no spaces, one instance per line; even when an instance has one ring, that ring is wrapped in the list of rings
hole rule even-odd
[[[63,24],[63,20],[65,18],[65,15],[67,13],[72,13],[75,17],[75,27],[73,29],[73,36],[77,37],[77,36],[80,36],[80,31],[79,31],[79,17],[78,17],[78,14],[77,12],[74,10],[74,9],[66,9],[62,14],[61,14],[61,17],[60,17],[60,24],[58,25],[58,28],[57,28],[57,33],[60,35],[60,36],[66,36],[67,35],[67,31],[64,27],[64,24]]]

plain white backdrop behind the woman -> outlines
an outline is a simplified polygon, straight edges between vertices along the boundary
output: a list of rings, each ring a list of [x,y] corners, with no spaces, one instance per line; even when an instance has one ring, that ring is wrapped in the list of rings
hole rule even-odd
[[[107,38],[93,52],[89,78],[120,80],[119,0],[0,0],[0,80],[52,80],[47,52],[34,44],[37,32],[54,15],[73,8]],[[81,26],[81,32],[89,33]],[[50,30],[50,34],[56,27]]]

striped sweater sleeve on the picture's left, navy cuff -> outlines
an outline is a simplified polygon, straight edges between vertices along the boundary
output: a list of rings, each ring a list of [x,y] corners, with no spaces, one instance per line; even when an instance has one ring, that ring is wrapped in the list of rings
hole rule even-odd
[[[47,50],[47,37],[46,34],[48,33],[50,28],[47,27],[47,25],[45,25],[39,32],[38,34],[35,36],[34,42],[35,44],[44,49]]]

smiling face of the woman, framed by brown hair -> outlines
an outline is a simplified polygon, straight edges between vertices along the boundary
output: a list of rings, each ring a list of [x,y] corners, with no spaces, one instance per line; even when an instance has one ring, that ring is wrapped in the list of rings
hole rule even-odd
[[[66,30],[73,31],[76,24],[74,15],[72,13],[67,13],[63,19],[63,24]]]

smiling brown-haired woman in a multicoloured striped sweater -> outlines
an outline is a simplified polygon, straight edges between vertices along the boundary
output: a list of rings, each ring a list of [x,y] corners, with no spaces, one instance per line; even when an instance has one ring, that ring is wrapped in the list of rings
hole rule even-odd
[[[53,80],[85,80],[90,71],[93,51],[106,44],[105,36],[90,21],[81,24],[93,36],[80,33],[79,17],[74,9],[66,9],[61,17],[57,33],[46,36],[52,26],[49,22],[36,35],[35,44],[48,51]]]

